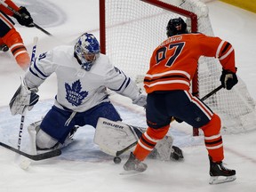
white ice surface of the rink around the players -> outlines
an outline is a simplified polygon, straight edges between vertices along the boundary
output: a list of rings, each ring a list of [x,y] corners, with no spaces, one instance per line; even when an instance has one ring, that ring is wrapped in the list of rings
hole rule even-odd
[[[36,28],[16,26],[25,44],[28,45],[28,51],[31,51],[33,36],[39,36],[37,53],[47,51],[58,44],[69,44],[84,31],[99,36],[98,1],[76,0],[71,3],[54,0],[52,4],[60,7],[67,15],[66,20],[58,26],[45,28],[55,36],[54,38],[44,35]],[[236,50],[237,73],[256,100],[256,14],[218,1],[209,3],[208,6],[215,35],[233,44]],[[2,82],[0,84],[0,141],[16,147],[20,116],[11,116],[8,103],[20,85],[20,75],[23,71],[15,64],[10,52],[0,53],[0,73],[0,82]],[[56,90],[54,77],[51,76],[40,87],[40,102],[31,112],[28,112],[25,127],[44,116],[51,108]],[[125,108],[121,105],[122,102]],[[115,103],[124,122],[146,126],[145,114],[141,108],[132,107],[131,101],[123,98],[115,98]],[[130,109],[127,110],[127,108]],[[84,126],[76,132],[74,143],[69,148],[63,149],[61,156],[32,162],[27,171],[20,169],[14,162],[15,155],[12,151],[0,147],[0,191],[256,191],[256,132],[223,135],[225,162],[227,167],[236,169],[237,179],[234,182],[215,186],[208,184],[209,163],[204,140],[202,136],[192,137],[191,132],[190,127],[180,130],[175,128],[175,124],[171,130],[176,138],[175,144],[184,151],[184,162],[147,159],[146,172],[129,176],[120,175],[128,155],[122,156],[121,164],[114,164],[113,156],[102,153],[99,147],[93,144],[94,129],[89,126]],[[28,151],[28,145],[28,132],[24,129],[21,150]]]

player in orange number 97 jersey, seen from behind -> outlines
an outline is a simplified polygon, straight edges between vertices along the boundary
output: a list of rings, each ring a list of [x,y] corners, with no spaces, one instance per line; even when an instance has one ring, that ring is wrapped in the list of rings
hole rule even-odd
[[[143,172],[147,169],[147,164],[142,161],[153,150],[157,141],[164,138],[172,117],[176,117],[203,130],[210,159],[210,184],[236,180],[236,171],[229,170],[222,164],[224,151],[220,117],[189,92],[200,56],[220,60],[223,68],[220,82],[225,89],[230,90],[237,84],[234,49],[219,37],[188,33],[187,24],[181,18],[168,22],[167,36],[153,52],[150,68],[144,78],[144,87],[148,93],[148,130],[140,137],[124,164],[124,170]],[[219,180],[219,176],[224,176],[225,179]]]

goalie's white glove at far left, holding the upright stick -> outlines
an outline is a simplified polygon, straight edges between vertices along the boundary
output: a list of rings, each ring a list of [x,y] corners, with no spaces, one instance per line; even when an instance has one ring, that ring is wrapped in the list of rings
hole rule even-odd
[[[14,93],[12,100],[9,103],[12,116],[17,114],[21,115],[25,108],[31,110],[39,100],[39,96],[36,94],[37,91],[37,88],[28,89],[27,84],[25,84],[21,78],[20,87]]]

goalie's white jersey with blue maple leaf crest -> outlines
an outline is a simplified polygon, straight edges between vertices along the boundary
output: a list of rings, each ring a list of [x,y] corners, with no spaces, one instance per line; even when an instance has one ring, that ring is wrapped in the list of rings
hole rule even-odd
[[[81,68],[74,57],[74,46],[59,46],[39,55],[24,79],[29,88],[34,88],[52,73],[57,75],[55,105],[58,108],[84,112],[108,100],[106,88],[132,100],[139,96],[139,89],[132,79],[115,68],[104,54],[100,54],[90,71]]]

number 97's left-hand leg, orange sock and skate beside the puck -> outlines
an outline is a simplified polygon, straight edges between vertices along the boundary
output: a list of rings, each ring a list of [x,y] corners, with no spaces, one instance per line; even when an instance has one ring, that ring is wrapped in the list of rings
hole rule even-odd
[[[125,171],[145,171],[147,164],[142,163],[142,161],[153,151],[156,143],[163,140],[169,131],[172,116],[168,116],[165,109],[166,103],[162,96],[163,94],[157,93],[148,94],[146,109],[148,129],[147,132],[142,134],[138,144],[124,164]]]

